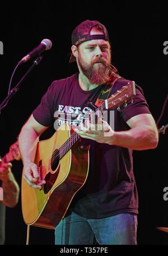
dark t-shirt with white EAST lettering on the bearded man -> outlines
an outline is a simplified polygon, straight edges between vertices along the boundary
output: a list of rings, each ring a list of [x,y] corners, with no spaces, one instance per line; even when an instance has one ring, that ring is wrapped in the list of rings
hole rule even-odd
[[[129,80],[121,77],[114,83],[110,94],[114,94],[128,82]],[[82,90],[78,83],[78,74],[53,81],[32,114],[41,125],[54,124],[55,129],[64,122],[78,125],[83,116],[91,111],[86,106],[88,99],[91,101],[97,99],[100,91],[101,86],[90,91]],[[109,118],[108,122],[115,131],[130,129],[126,123],[129,118],[150,113],[142,89],[136,85],[134,102],[130,103],[129,100],[128,106],[125,108],[122,106],[121,111],[117,109],[113,112],[108,111],[108,117],[111,113],[114,122],[111,124]],[[75,117],[74,121],[71,121],[72,116]],[[132,150],[93,140],[89,140],[89,143],[91,146],[88,177],[74,196],[69,209],[87,218],[104,218],[123,212],[138,213]]]

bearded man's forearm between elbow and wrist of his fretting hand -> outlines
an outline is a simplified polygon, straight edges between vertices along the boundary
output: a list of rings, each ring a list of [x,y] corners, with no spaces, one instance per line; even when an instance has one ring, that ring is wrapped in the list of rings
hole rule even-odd
[[[156,148],[158,133],[151,126],[142,125],[128,131],[116,131],[109,144],[124,148],[144,150]]]

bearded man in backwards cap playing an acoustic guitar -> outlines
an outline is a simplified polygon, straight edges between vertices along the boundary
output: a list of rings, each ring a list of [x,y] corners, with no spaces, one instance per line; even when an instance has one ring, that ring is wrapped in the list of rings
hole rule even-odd
[[[22,127],[19,147],[25,180],[37,189],[45,184],[39,180],[34,157],[39,136],[53,125],[54,117],[57,126],[64,122],[80,125],[75,131],[90,144],[90,168],[85,184],[55,227],[55,244],[137,244],[138,196],[132,150],[156,148],[155,121],[136,85],[134,102],[114,111],[114,130],[103,120],[83,127],[82,118],[91,111],[88,103],[95,103],[104,84],[112,81],[111,95],[128,80],[111,65],[108,31],[99,21],[78,25],[72,33],[71,49],[69,62],[76,61],[79,72],[54,81]]]

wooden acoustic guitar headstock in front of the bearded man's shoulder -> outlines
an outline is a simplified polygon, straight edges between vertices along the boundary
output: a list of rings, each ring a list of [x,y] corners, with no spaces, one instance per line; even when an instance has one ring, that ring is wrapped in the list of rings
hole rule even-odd
[[[106,109],[113,109],[119,107],[123,103],[127,103],[129,99],[133,99],[135,95],[135,82],[130,81],[127,85],[123,86],[120,90],[111,95],[109,99],[105,100],[105,107]]]

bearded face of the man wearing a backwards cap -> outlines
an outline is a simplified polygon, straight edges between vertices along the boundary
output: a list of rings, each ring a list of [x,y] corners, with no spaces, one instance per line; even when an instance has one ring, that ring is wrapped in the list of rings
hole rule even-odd
[[[91,84],[105,84],[109,80],[111,65],[109,42],[95,39],[79,45],[78,64]]]

